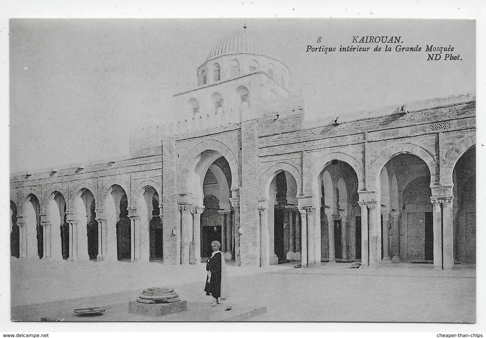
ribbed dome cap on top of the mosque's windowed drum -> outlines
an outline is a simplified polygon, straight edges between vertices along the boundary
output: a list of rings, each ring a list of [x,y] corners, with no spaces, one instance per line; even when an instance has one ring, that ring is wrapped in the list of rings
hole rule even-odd
[[[229,33],[209,52],[208,59],[227,54],[248,53],[265,55],[265,45],[259,33],[246,28]]]

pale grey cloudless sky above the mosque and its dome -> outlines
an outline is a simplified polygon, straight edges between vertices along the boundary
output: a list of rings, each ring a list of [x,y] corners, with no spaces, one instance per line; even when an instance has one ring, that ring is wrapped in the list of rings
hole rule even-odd
[[[129,158],[132,129],[177,117],[173,95],[194,88],[209,50],[245,24],[290,68],[313,118],[475,90],[473,20],[13,19],[11,172]],[[382,35],[402,43],[353,43]],[[371,51],[339,51],[351,45]],[[422,51],[397,52],[397,45]],[[427,61],[426,45],[451,45],[462,60]]]

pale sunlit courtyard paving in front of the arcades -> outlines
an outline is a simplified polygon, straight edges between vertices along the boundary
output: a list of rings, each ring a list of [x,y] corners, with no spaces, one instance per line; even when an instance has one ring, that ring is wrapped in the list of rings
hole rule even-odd
[[[472,267],[444,272],[428,264],[378,269],[347,269],[350,264],[344,263],[295,269],[295,264],[262,269],[237,268],[229,262],[231,298],[227,304],[265,306],[266,313],[247,319],[250,322],[476,320],[476,271]],[[210,297],[202,291],[205,277],[204,264],[20,263],[12,259],[12,318],[38,321],[47,309],[121,304],[152,286],[174,287],[181,299],[209,304]],[[462,324],[459,331],[470,331],[473,326]]]

